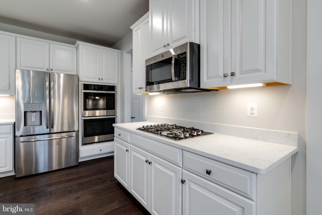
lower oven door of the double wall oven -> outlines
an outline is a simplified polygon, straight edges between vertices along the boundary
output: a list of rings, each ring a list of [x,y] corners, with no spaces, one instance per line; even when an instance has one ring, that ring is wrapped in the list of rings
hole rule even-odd
[[[82,117],[82,145],[113,140],[115,117]]]

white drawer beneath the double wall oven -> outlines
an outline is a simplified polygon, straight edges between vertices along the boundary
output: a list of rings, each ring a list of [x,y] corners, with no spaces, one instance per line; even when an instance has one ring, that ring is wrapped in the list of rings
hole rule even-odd
[[[93,144],[89,146],[83,146],[79,149],[79,157],[87,157],[91,155],[99,155],[103,153],[114,151],[114,141],[104,144]]]

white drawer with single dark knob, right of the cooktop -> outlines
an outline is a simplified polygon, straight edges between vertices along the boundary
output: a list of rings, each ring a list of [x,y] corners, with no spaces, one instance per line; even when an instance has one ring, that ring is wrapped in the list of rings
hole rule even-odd
[[[183,152],[183,169],[256,200],[256,174],[194,153]]]

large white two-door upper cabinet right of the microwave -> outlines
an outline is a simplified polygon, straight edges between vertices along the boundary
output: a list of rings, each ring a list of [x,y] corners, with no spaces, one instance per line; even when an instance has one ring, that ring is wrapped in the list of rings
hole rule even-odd
[[[201,87],[291,84],[290,0],[200,2]]]

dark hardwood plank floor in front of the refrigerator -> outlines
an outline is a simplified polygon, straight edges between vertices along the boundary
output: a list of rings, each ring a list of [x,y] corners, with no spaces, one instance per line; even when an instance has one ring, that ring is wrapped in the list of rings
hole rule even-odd
[[[114,178],[113,156],[39,175],[0,178],[1,203],[35,203],[36,214],[149,214]]]

